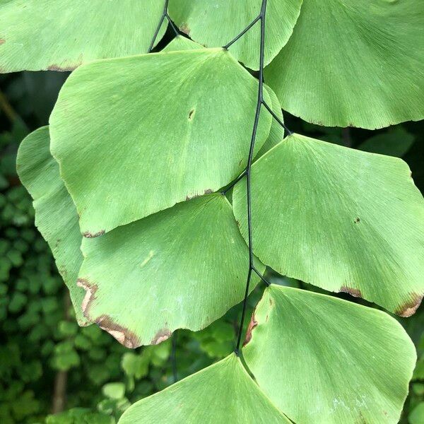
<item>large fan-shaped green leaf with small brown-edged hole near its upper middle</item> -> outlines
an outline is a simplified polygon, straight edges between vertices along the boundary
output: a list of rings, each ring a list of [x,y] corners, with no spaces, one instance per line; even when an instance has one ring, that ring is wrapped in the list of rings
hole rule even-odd
[[[223,49],[78,68],[59,94],[50,134],[83,234],[228,184],[247,163],[256,104],[257,80]],[[258,150],[270,127],[264,111]]]

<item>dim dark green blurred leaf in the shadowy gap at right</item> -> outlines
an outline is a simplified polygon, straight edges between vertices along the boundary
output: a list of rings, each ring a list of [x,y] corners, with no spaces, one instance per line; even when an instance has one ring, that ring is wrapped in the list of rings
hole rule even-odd
[[[415,137],[405,131],[401,126],[391,129],[383,134],[377,134],[365,140],[358,146],[361,151],[380,153],[382,155],[401,158],[413,145]]]

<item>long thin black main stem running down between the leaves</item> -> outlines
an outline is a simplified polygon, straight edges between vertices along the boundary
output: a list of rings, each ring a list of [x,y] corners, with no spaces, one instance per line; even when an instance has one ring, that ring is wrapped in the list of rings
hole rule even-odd
[[[252,196],[251,196],[251,170],[252,170],[252,160],[254,153],[254,142],[256,141],[257,129],[259,124],[259,114],[261,112],[261,105],[264,103],[264,45],[265,45],[265,14],[266,14],[266,0],[262,0],[261,13],[259,16],[252,21],[252,23],[244,30],[240,35],[237,35],[234,40],[232,40],[227,46],[232,45],[233,42],[237,41],[243,34],[247,32],[252,26],[257,22],[257,20],[261,21],[261,45],[259,51],[259,86],[258,86],[258,98],[257,98],[257,109],[254,115],[254,124],[252,131],[252,139],[250,141],[249,148],[249,158],[247,160],[246,167],[246,182],[247,182],[247,231],[248,231],[248,239],[249,239],[249,272],[247,273],[247,281],[246,281],[246,290],[245,290],[245,298],[243,300],[243,310],[242,310],[242,318],[240,319],[240,326],[237,335],[237,344],[235,346],[235,354],[240,355],[240,343],[242,340],[242,331],[243,324],[245,322],[245,314],[247,308],[247,297],[249,295],[249,285],[250,280],[252,278],[252,271],[256,271],[254,267],[254,256],[253,256],[253,242],[252,242]]]

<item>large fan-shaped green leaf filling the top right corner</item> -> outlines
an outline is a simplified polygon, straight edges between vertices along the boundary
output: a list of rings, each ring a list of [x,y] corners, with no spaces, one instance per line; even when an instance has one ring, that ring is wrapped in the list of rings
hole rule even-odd
[[[266,83],[284,110],[319,125],[423,119],[423,27],[423,1],[304,0]]]

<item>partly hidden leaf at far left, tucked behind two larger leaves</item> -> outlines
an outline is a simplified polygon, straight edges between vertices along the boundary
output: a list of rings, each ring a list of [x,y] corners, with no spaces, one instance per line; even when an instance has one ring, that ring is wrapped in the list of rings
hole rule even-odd
[[[49,127],[37,129],[20,143],[16,167],[34,199],[35,225],[52,249],[57,269],[69,288],[78,324],[86,325],[81,302],[84,290],[76,280],[83,261],[78,215],[49,151]]]

